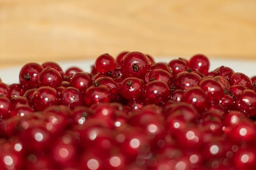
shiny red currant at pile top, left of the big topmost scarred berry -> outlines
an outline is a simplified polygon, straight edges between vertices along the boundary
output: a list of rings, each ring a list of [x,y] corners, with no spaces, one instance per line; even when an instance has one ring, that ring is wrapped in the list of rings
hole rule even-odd
[[[95,68],[100,73],[107,73],[117,67],[116,59],[109,54],[98,56],[95,61]]]

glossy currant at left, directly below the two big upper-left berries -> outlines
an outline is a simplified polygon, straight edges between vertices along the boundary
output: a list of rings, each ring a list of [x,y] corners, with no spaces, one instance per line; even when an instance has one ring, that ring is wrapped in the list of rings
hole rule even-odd
[[[58,104],[57,91],[49,86],[39,87],[33,93],[32,105],[35,110],[43,110],[49,105]]]

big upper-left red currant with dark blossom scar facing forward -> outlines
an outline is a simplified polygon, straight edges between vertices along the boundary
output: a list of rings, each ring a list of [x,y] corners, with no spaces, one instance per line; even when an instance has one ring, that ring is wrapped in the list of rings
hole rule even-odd
[[[25,89],[37,88],[39,73],[43,70],[43,67],[38,63],[27,63],[20,69],[20,84]]]

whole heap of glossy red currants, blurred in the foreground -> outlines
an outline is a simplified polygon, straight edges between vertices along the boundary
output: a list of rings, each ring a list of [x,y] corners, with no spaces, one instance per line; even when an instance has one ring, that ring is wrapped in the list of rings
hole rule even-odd
[[[28,63],[0,82],[1,170],[254,170],[256,77],[209,59]]]

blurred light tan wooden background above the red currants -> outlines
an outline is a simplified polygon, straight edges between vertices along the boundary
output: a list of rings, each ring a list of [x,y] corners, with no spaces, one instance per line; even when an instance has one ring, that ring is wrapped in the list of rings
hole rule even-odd
[[[256,0],[0,0],[0,67],[124,50],[256,60]]]

